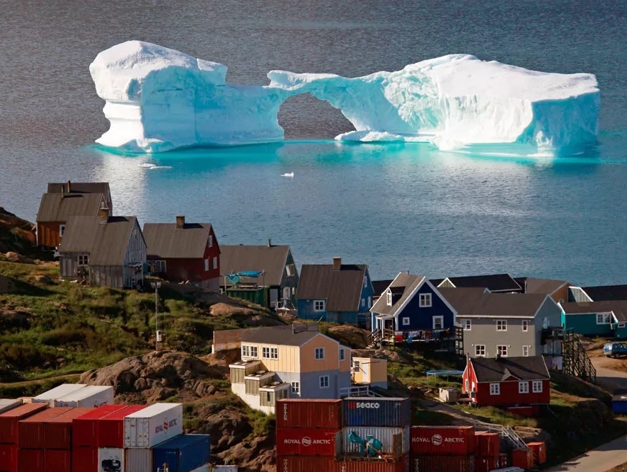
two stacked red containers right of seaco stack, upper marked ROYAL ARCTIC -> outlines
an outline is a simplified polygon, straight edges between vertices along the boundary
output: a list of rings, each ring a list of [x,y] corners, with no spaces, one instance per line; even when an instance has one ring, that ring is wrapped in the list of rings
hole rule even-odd
[[[414,426],[410,430],[412,470],[473,472],[473,426]]]

